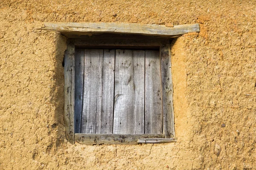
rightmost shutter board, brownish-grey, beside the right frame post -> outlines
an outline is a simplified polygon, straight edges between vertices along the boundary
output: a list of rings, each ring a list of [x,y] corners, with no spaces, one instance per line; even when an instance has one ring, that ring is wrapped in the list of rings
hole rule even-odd
[[[145,51],[145,133],[162,131],[162,92],[159,51]]]

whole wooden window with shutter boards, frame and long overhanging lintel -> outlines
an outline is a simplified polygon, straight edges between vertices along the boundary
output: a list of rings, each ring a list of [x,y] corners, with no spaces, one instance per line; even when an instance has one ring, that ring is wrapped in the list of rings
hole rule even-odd
[[[69,142],[174,142],[171,38],[198,24],[44,23],[68,38],[64,117]],[[107,38],[108,37],[108,38]]]

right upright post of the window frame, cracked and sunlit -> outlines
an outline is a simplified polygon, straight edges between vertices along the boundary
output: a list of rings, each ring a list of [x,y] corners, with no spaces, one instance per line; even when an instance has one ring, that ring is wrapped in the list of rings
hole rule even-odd
[[[169,42],[162,42],[160,46],[162,99],[163,99],[163,133],[165,138],[175,137],[173,86],[171,72],[171,48]]]

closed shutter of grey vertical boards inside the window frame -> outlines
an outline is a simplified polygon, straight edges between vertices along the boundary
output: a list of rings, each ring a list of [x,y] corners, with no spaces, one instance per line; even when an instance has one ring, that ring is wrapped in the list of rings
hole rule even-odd
[[[75,133],[163,134],[159,51],[75,53]]]

